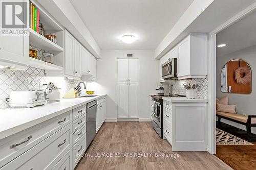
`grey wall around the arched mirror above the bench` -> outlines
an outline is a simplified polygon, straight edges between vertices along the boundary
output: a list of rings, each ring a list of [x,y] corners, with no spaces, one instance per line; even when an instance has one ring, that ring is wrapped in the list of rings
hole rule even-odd
[[[230,60],[233,59],[242,59],[247,62],[252,71],[252,92],[250,94],[236,94],[236,93],[223,93],[221,92],[221,70],[222,67]],[[236,111],[238,114],[247,114],[247,115],[256,115],[255,112],[255,101],[256,101],[256,45],[245,48],[238,52],[228,54],[226,56],[217,57],[217,69],[216,69],[216,97],[223,98],[224,96],[228,96],[230,105],[237,105]],[[245,126],[230,122],[229,120],[222,120],[222,122],[227,123],[232,126],[236,126],[241,129],[246,129]],[[252,127],[252,132],[256,133],[256,128]]]

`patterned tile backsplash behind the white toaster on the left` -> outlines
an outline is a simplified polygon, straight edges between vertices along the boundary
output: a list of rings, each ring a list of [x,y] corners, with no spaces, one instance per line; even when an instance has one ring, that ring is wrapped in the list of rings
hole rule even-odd
[[[27,70],[0,70],[0,109],[9,107],[6,98],[9,98],[13,90],[25,89],[45,89],[48,84],[53,82],[60,88],[63,96],[70,88],[74,87],[78,80],[67,80],[64,77],[45,77],[42,69],[30,67]]]

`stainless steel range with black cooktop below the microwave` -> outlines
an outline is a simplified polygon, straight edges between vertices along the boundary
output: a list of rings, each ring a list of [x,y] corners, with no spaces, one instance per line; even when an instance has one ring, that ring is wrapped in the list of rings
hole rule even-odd
[[[153,128],[158,135],[163,138],[163,100],[162,98],[174,98],[182,95],[169,94],[169,95],[151,95],[153,99]]]

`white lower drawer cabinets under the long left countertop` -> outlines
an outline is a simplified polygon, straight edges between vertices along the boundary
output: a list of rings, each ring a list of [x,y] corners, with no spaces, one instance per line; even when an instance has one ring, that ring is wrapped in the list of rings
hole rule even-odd
[[[0,169],[73,170],[87,149],[86,117],[83,105],[0,140]]]

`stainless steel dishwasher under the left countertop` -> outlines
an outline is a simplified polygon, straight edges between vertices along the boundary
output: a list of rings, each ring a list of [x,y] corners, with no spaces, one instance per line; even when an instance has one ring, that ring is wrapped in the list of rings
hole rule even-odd
[[[96,135],[96,113],[97,113],[97,101],[92,101],[87,104],[87,123],[86,123],[86,140],[87,147],[93,141]]]

